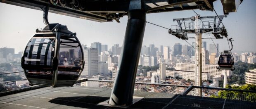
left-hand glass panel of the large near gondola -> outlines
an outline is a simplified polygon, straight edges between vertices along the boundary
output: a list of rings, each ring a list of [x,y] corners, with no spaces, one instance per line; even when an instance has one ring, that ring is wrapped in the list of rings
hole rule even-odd
[[[36,34],[29,40],[24,51],[26,77],[32,83],[52,84],[52,59],[55,55],[56,34]],[[38,79],[34,79],[38,78]],[[44,80],[45,82],[39,82]]]

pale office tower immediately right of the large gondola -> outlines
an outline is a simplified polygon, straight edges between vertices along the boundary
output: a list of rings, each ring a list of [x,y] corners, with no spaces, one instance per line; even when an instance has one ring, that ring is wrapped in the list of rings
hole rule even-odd
[[[99,55],[97,48],[87,48],[83,50],[85,58],[85,66],[82,75],[97,75],[99,72]]]

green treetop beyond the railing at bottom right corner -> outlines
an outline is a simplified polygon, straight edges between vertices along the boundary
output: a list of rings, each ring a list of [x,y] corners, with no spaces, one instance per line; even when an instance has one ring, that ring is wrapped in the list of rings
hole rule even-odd
[[[256,91],[256,85],[251,85],[251,84],[245,84],[245,85],[234,86],[234,87],[231,87],[230,85],[227,85],[226,88]],[[218,92],[218,95],[211,95],[211,97],[223,98],[223,99],[228,98],[228,99],[232,99],[232,100],[237,100],[237,99],[243,97],[243,99],[245,99],[246,101],[254,102],[253,100],[256,100],[256,93],[222,90],[222,91]]]

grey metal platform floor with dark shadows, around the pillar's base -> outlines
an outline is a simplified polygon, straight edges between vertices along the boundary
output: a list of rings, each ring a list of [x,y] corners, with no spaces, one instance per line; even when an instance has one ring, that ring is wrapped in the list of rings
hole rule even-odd
[[[84,86],[40,88],[0,97],[0,109],[120,109],[98,105],[111,89]],[[128,109],[255,109],[255,102],[135,91],[144,97]]]

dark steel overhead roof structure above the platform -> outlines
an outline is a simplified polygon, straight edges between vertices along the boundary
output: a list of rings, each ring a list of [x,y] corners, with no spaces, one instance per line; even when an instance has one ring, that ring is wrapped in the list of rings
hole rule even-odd
[[[70,0],[72,1],[72,0]],[[73,0],[74,1],[74,0]],[[0,2],[42,10],[49,6],[49,12],[88,19],[98,22],[119,21],[120,17],[128,14],[131,0],[78,0],[83,9],[67,5],[52,5],[50,0],[0,0]],[[146,13],[171,12],[188,9],[213,10],[216,0],[137,0]]]

